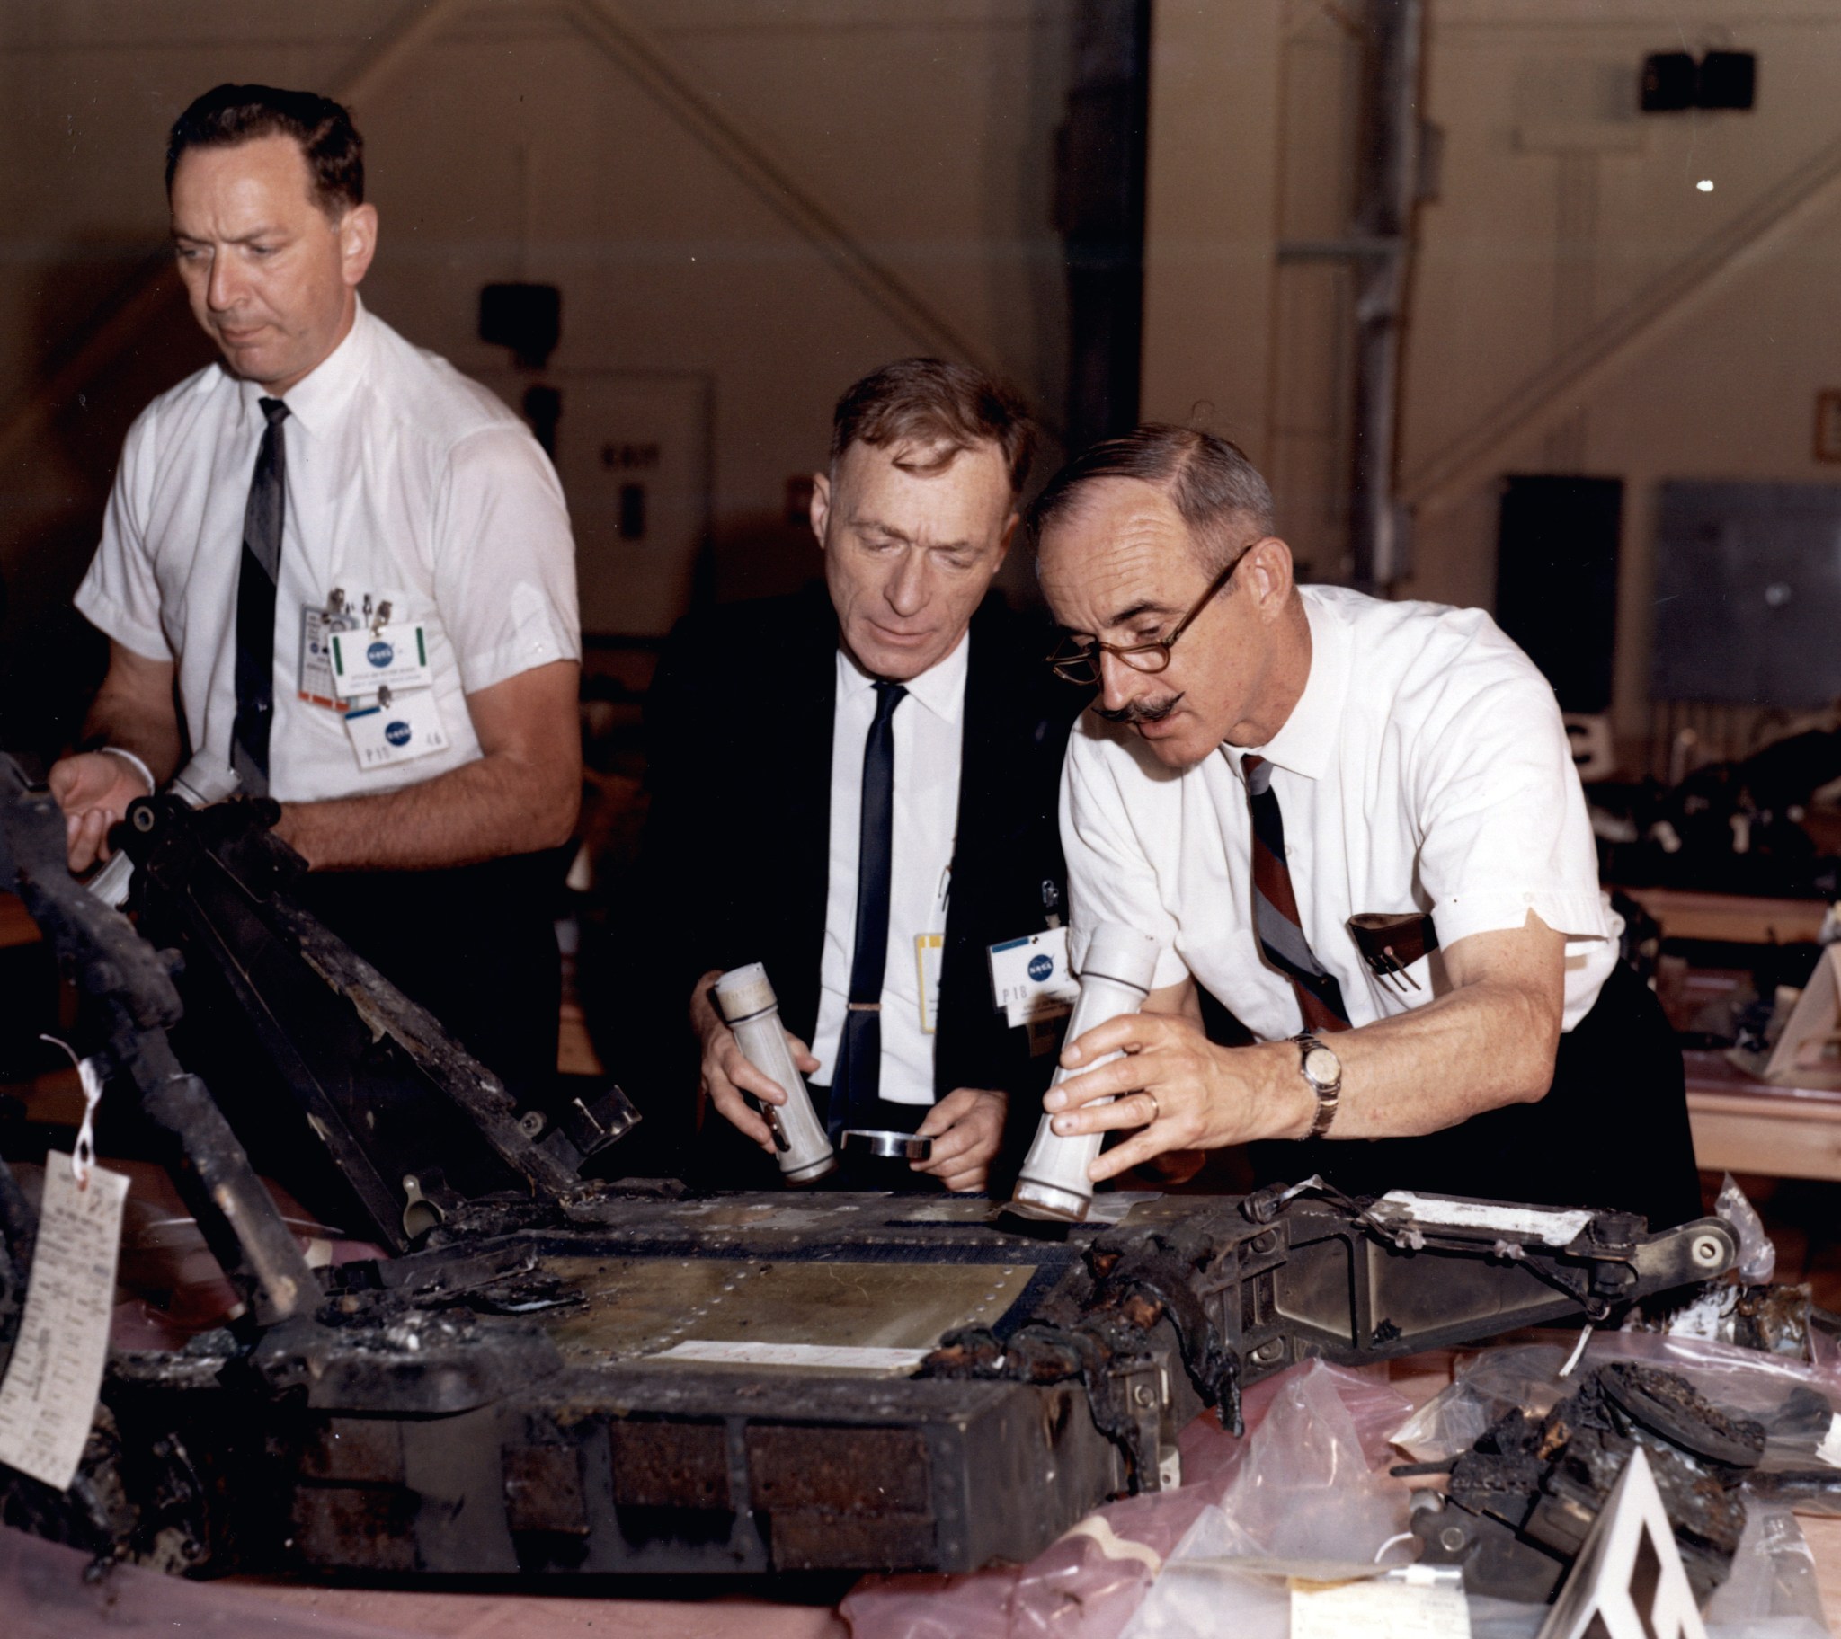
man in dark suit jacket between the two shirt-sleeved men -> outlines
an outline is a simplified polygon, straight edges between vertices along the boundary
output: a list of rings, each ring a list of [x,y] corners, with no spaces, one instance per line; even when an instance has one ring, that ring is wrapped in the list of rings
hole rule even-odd
[[[766,964],[834,1139],[869,1120],[919,1131],[933,1153],[915,1170],[978,1190],[1007,1107],[1016,1133],[1040,1115],[1053,1056],[1031,1056],[1029,1032],[1007,1025],[987,958],[1057,925],[1064,900],[1055,802],[1079,701],[1042,682],[1048,629],[990,592],[1031,443],[1022,407],[978,372],[930,359],[876,372],[839,401],[830,469],[814,480],[825,589],[690,616],[661,659],[646,706],[655,944],[641,993],[665,1010],[654,1032],[689,1012],[701,1098],[770,1155],[744,1095],[779,1102],[781,1089],[709,1001],[744,962]],[[878,734],[893,857],[863,824]],[[878,925],[865,923],[876,859],[880,973],[856,947],[858,929]],[[932,934],[937,991],[917,951]],[[668,1118],[690,1102],[689,1063],[666,1060],[661,1078],[650,1102]],[[760,1161],[736,1168],[724,1135],[703,1122],[694,1170],[771,1175]]]

